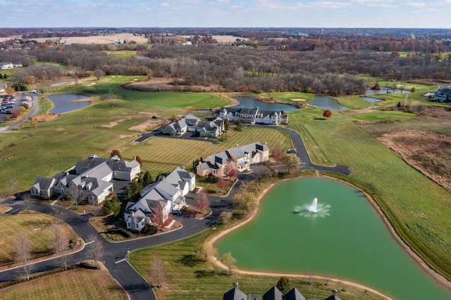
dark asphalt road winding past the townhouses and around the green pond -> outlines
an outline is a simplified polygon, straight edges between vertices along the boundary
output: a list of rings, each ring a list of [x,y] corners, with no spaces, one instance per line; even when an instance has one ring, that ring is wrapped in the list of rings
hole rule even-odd
[[[288,134],[292,138],[292,142],[297,149],[297,156],[302,161],[302,164],[299,165],[299,168],[332,171],[346,175],[350,174],[349,168],[347,168],[347,166],[345,165],[335,165],[334,167],[314,165],[310,161],[301,137],[296,132],[292,132],[291,130],[287,130],[285,128],[273,128],[276,130],[281,130],[283,132],[288,132]],[[122,285],[122,287],[130,296],[131,300],[155,299],[154,292],[152,291],[152,288],[149,286],[149,284],[125,261],[125,256],[127,256],[128,251],[166,244],[168,242],[174,242],[179,239],[185,239],[186,237],[195,235],[199,232],[202,232],[203,230],[206,230],[208,227],[215,225],[218,222],[218,216],[221,211],[231,211],[233,209],[231,204],[232,201],[230,200],[234,192],[243,181],[249,180],[250,177],[252,176],[240,174],[239,178],[241,180],[237,182],[237,185],[233,186],[232,190],[226,197],[211,196],[210,208],[213,213],[204,220],[195,220],[194,218],[187,218],[184,215],[174,215],[173,219],[182,223],[183,227],[173,232],[118,243],[107,242],[103,238],[99,239],[101,240],[104,249],[103,256],[101,257],[102,263],[104,263],[107,270],[109,270],[109,273],[111,273],[111,275]],[[192,201],[192,199],[187,199],[187,204],[190,204],[190,201]],[[13,207],[13,209],[10,211],[13,213],[17,213],[18,211],[25,209],[25,204],[23,203],[23,201],[17,201],[16,199],[7,199],[3,202],[3,204]],[[51,209],[51,206],[48,204],[43,204],[42,202],[32,202],[31,209],[55,216],[55,212]],[[94,227],[89,224],[89,216],[87,215],[77,215],[72,211],[65,210],[59,216],[59,218],[68,223],[68,225],[73,228],[73,230],[80,238],[85,241],[85,243],[89,243],[89,238],[92,235],[99,235],[99,232],[97,232],[97,230],[95,230]],[[81,251],[76,252],[75,254],[70,254],[69,263],[78,263],[80,261],[85,261],[88,259],[90,259],[90,257],[87,253],[87,249],[85,248]],[[46,270],[53,270],[55,268],[61,267],[61,263],[58,261],[58,258],[51,258],[46,261],[37,262],[34,265],[35,268],[33,270],[33,273],[40,273]],[[0,282],[16,280],[20,277],[23,277],[21,268],[11,268],[4,270],[0,272],[0,275]]]

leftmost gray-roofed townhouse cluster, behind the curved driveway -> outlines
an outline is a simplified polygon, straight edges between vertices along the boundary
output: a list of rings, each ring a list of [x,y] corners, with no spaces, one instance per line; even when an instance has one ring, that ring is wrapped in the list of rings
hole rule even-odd
[[[113,192],[111,180],[132,181],[141,172],[137,161],[123,161],[118,156],[100,158],[90,156],[75,164],[75,174],[58,173],[50,178],[37,177],[30,193],[32,196],[49,199],[53,194],[70,194],[86,199],[89,204],[101,204]]]

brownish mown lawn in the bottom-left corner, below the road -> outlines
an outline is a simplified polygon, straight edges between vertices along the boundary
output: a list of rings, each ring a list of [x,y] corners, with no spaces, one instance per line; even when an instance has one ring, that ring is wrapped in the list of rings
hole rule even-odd
[[[0,289],[2,299],[127,299],[106,270],[77,268]]]

